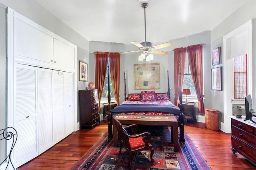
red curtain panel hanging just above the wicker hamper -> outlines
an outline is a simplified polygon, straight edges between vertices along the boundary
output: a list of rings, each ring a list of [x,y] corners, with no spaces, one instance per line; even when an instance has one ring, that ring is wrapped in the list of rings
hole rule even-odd
[[[187,47],[188,62],[192,80],[196,89],[198,99],[198,113],[204,114],[203,100],[203,45],[192,45]]]

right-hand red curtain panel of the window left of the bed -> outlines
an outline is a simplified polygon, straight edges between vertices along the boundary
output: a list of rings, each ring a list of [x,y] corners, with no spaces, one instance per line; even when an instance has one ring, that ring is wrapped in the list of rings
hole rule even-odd
[[[117,105],[119,101],[119,89],[120,89],[120,53],[110,53],[110,74],[112,81],[112,89],[116,99]]]

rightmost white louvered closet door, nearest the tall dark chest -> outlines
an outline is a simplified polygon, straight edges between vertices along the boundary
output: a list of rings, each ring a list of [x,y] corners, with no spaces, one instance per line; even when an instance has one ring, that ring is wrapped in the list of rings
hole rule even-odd
[[[65,135],[68,136],[74,131],[73,117],[74,117],[74,74],[65,72]]]

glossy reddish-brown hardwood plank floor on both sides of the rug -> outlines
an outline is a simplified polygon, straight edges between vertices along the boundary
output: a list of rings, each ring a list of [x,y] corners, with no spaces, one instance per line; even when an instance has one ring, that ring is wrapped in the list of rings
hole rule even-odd
[[[72,133],[54,147],[17,168],[18,170],[69,170],[108,131],[108,124],[101,121],[94,129]],[[231,152],[231,135],[212,131],[204,123],[187,123],[185,132],[198,148],[212,170],[253,170],[240,154]]]

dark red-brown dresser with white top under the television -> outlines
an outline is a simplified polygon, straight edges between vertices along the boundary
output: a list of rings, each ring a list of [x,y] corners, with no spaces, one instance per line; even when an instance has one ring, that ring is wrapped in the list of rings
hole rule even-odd
[[[242,118],[231,117],[231,150],[238,152],[256,165],[256,124]]]

